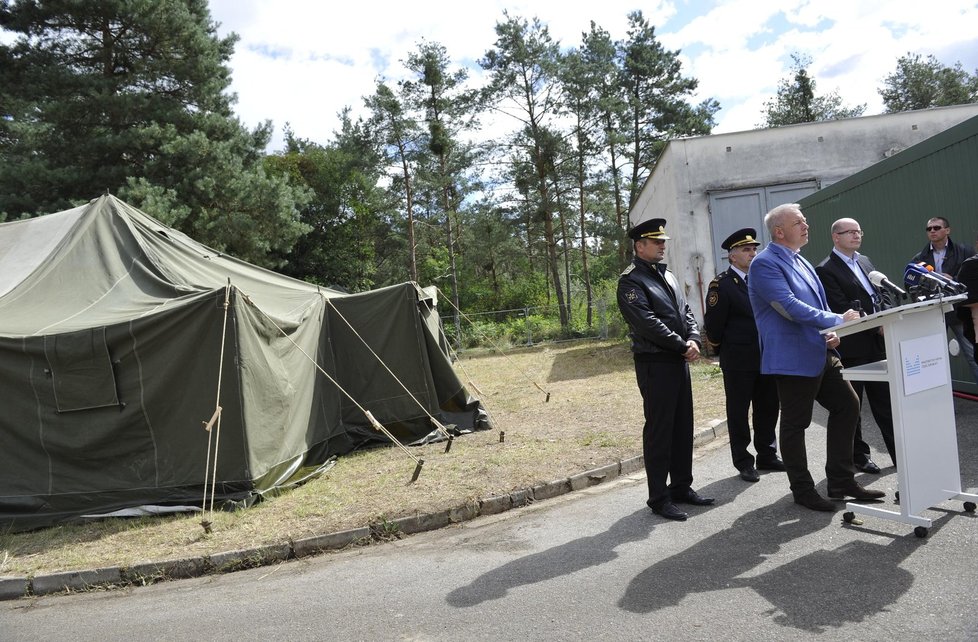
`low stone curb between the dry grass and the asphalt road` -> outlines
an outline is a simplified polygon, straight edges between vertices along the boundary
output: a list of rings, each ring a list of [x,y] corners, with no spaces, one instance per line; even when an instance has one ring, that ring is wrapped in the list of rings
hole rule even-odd
[[[712,421],[693,435],[693,445],[703,446],[725,435],[727,422]],[[126,586],[145,586],[172,579],[185,579],[231,573],[269,564],[338,551],[350,546],[367,545],[375,541],[397,539],[403,535],[444,528],[480,516],[496,515],[537,501],[553,499],[570,492],[605,484],[644,469],[641,455],[622,459],[613,464],[555,479],[508,495],[494,495],[469,501],[436,513],[423,513],[371,524],[362,528],[338,531],[326,535],[289,540],[252,549],[224,551],[165,562],[145,562],[130,567],[107,567],[81,571],[66,571],[32,577],[0,576],[0,600],[13,600],[54,593],[103,590]]]

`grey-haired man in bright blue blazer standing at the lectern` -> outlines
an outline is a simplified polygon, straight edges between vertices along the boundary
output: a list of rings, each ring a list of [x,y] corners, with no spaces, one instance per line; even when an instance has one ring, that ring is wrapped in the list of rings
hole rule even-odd
[[[859,317],[829,311],[815,268],[801,254],[808,223],[796,203],[779,205],[764,217],[771,242],[751,262],[748,292],[761,344],[761,372],[775,376],[781,400],[781,458],[795,502],[812,510],[835,504],[815,490],[808,470],[805,429],[814,403],[829,411],[825,476],[833,499],[879,499],[885,493],[863,488],[854,478],[852,442],[859,399],[842,378],[835,333],[821,330]]]

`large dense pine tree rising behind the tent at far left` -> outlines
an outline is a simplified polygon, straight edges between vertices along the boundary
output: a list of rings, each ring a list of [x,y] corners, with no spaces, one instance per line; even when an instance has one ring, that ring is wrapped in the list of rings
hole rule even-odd
[[[265,175],[271,125],[231,111],[206,0],[0,3],[0,211],[33,216],[108,190],[199,240],[263,262],[306,228],[306,198]]]

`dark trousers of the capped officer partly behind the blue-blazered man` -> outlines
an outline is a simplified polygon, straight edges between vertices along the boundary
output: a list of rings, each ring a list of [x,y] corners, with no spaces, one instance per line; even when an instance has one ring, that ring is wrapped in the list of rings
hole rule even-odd
[[[772,462],[778,457],[778,384],[771,375],[757,370],[724,370],[723,391],[727,404],[727,433],[734,468],[743,470],[754,465],[747,447],[754,426],[754,451],[757,463]],[[753,407],[753,413],[750,413]],[[752,421],[748,422],[748,414]]]

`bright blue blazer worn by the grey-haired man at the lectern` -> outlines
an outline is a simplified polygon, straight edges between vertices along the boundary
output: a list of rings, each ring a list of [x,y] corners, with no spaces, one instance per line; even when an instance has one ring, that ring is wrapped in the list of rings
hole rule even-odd
[[[783,245],[769,243],[751,261],[747,290],[761,343],[761,372],[815,377],[825,369],[819,330],[842,323],[829,312],[815,268]],[[811,275],[811,283],[801,270]]]

